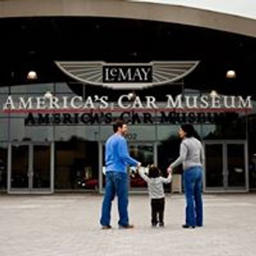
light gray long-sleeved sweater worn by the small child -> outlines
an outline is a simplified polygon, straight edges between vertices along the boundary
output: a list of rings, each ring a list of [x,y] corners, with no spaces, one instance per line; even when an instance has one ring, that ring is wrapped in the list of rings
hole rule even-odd
[[[172,180],[172,175],[169,174],[167,178],[157,177],[149,178],[145,173],[139,169],[139,174],[145,182],[148,184],[148,195],[150,199],[164,198],[163,183],[168,184]]]

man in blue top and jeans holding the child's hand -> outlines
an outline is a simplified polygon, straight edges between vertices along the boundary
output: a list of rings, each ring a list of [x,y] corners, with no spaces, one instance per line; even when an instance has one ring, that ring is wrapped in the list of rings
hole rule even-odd
[[[129,187],[127,164],[140,168],[141,163],[129,156],[127,141],[124,138],[128,131],[127,125],[122,121],[117,121],[113,125],[113,130],[115,133],[106,142],[106,188],[100,224],[102,229],[111,228],[111,205],[115,195],[117,195],[120,218],[118,225],[120,228],[133,228],[133,225],[129,223],[127,209]]]

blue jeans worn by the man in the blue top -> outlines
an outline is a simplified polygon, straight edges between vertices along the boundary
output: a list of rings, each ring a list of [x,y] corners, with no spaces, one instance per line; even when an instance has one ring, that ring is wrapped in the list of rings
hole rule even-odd
[[[112,201],[118,197],[118,225],[129,225],[128,217],[128,175],[124,172],[106,172],[106,188],[102,203],[100,224],[110,225]]]

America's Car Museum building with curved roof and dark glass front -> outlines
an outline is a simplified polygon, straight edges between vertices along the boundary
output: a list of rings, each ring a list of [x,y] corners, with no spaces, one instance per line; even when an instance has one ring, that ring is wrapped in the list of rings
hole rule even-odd
[[[143,166],[164,175],[179,125],[191,123],[204,141],[204,191],[256,189],[256,21],[70,2],[0,1],[1,192],[104,191],[104,143],[119,118]],[[145,190],[129,173],[131,190]]]

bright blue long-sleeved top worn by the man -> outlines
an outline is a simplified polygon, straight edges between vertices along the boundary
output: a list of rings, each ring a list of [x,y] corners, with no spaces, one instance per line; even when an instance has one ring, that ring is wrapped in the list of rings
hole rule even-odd
[[[127,172],[127,164],[137,166],[139,163],[129,156],[127,141],[119,134],[113,134],[106,142],[106,172]]]

